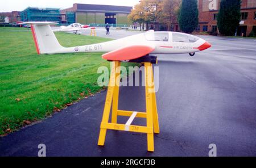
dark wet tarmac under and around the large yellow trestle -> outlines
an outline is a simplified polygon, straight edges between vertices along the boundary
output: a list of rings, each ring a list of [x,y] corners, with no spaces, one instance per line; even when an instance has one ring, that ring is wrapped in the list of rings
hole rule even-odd
[[[194,57],[159,56],[160,134],[154,136],[154,153],[146,151],[146,135],[140,133],[108,131],[105,146],[97,146],[102,91],[0,138],[0,156],[36,156],[41,143],[47,156],[208,156],[212,143],[217,156],[256,156],[256,41],[201,37],[213,47]],[[120,109],[144,111],[144,106],[142,87],[121,88]],[[119,123],[126,120],[118,118]]]

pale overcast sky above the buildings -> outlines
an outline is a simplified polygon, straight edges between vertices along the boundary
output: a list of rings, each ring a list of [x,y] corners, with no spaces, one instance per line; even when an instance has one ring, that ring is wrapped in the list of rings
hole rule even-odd
[[[0,12],[22,11],[30,7],[54,7],[65,9],[73,3],[134,6],[139,0],[0,0]]]

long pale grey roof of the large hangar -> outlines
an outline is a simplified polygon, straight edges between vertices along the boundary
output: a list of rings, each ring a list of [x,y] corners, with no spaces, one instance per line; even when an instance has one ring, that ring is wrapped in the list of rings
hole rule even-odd
[[[131,9],[133,9],[131,6],[91,5],[77,3],[77,11],[111,11],[130,13]]]

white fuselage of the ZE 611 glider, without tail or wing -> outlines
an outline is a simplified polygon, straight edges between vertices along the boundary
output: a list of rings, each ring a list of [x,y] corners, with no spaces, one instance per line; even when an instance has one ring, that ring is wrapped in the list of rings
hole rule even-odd
[[[168,35],[168,40],[157,40],[154,39],[154,33],[166,33]],[[200,45],[205,43],[205,40],[196,37],[197,40],[195,42],[189,42],[189,40],[184,40],[182,37],[180,38],[182,41],[173,40],[173,33],[180,35],[187,35],[185,33],[177,33],[177,32],[146,32],[140,33],[138,35],[133,35],[129,37],[125,37],[118,40],[108,41],[105,43],[91,44],[91,45],[82,45],[77,47],[63,48],[63,50],[57,53],[73,53],[73,52],[111,52],[118,48],[123,48],[130,45],[152,45],[155,46],[155,50],[150,54],[174,54],[174,53],[192,53],[198,52],[200,49]],[[150,37],[151,36],[151,37]]]

